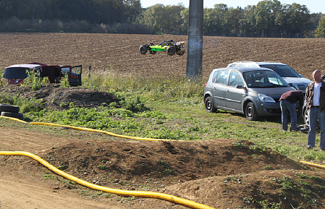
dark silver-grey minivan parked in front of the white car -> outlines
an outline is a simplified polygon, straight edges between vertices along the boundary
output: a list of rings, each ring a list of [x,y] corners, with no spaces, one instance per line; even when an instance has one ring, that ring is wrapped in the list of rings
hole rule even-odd
[[[213,69],[205,85],[204,105],[208,113],[222,109],[258,120],[262,116],[280,116],[279,99],[284,92],[293,90],[269,68],[218,68]]]

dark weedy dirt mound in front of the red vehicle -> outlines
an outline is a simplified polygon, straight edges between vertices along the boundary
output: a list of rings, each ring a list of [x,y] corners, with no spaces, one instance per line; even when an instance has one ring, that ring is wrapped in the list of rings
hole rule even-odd
[[[58,84],[43,85],[41,89],[33,91],[31,87],[22,87],[20,85],[6,85],[2,87],[1,92],[19,94],[26,99],[35,97],[43,99],[44,108],[64,109],[68,108],[73,102],[76,108],[97,108],[105,102],[109,105],[111,102],[119,104],[116,96],[108,92],[97,91],[81,87],[60,87]]]

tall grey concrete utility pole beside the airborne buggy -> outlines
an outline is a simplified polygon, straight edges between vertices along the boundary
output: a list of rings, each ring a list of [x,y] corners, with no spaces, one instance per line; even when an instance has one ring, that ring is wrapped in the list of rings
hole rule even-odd
[[[186,76],[202,79],[203,0],[189,0]]]

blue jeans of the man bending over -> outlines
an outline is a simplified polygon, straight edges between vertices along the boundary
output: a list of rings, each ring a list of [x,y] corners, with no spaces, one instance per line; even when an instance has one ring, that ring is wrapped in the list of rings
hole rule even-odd
[[[282,112],[282,130],[288,130],[288,111],[291,118],[291,128],[290,130],[297,131],[297,110],[296,104],[291,103],[287,100],[280,101],[280,108]]]

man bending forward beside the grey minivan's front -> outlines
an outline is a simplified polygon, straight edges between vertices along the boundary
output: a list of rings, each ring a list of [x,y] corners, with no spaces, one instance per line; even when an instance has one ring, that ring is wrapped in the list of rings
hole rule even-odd
[[[299,107],[296,108],[296,102],[299,101]],[[282,94],[280,98],[280,108],[282,112],[282,130],[288,130],[288,111],[291,118],[291,131],[297,131],[297,114],[303,110],[304,95],[301,91],[288,91]],[[298,113],[297,113],[298,112]]]

